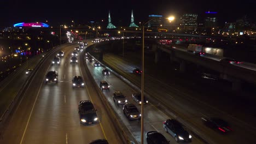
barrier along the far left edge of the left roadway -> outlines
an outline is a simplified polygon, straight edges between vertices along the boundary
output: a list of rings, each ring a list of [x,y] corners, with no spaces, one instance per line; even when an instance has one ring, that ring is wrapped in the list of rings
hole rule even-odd
[[[42,66],[42,64],[45,62],[45,60],[50,57],[51,55],[53,55],[54,52],[56,52],[57,50],[59,50],[61,47],[57,46],[54,49],[52,49],[51,51],[49,51],[44,58],[42,58],[39,63],[36,65],[36,67],[34,67],[33,71],[31,72],[31,74],[27,77],[26,81],[24,82],[24,84],[21,86],[21,88],[19,89],[18,93],[16,93],[16,96],[14,97],[13,101],[11,101],[10,105],[8,106],[8,109],[5,110],[5,112],[3,113],[3,115],[0,118],[0,139],[2,138],[2,135],[4,133],[5,127],[8,125],[8,119],[12,116],[14,110],[15,110],[15,105],[19,102],[19,100],[23,97],[24,92],[26,91],[28,85],[30,84],[30,82],[34,79],[34,76],[37,73],[37,70]]]

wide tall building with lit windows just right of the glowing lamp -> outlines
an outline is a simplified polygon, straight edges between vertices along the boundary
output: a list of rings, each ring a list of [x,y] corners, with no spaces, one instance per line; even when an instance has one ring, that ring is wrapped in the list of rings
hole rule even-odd
[[[196,31],[197,14],[183,14],[180,22],[181,27],[184,29],[184,31]]]

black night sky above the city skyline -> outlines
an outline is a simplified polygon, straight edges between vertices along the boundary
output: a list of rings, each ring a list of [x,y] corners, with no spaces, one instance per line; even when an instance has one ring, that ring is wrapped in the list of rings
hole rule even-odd
[[[224,2],[225,1],[225,2]],[[199,20],[205,11],[217,11],[220,23],[225,21],[235,22],[236,19],[248,15],[251,21],[256,22],[256,0],[244,1],[188,1],[188,0],[157,0],[157,1],[31,1],[31,0],[1,0],[0,27],[10,27],[18,22],[45,22],[49,25],[71,25],[71,21],[85,23],[88,21],[107,20],[108,10],[112,16],[112,22],[117,25],[130,23],[131,9],[135,16],[135,22],[147,21],[148,15],[157,14],[168,17],[169,15],[181,15],[183,13],[197,13]]]

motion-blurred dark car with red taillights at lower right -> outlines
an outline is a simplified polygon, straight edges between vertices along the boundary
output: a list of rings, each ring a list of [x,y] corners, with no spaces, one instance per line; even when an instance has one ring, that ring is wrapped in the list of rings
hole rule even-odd
[[[232,131],[228,122],[221,118],[202,118],[202,120],[207,127],[216,129],[221,133],[228,133]]]

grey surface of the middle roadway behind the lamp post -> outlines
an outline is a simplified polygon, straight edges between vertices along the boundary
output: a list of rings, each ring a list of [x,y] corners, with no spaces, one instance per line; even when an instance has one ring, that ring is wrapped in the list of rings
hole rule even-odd
[[[135,101],[132,100],[132,94],[136,92],[135,89],[133,89],[131,86],[127,85],[123,80],[119,79],[119,77],[115,76],[113,73],[109,76],[103,76],[102,70],[104,67],[94,67],[94,62],[88,62],[88,68],[91,71],[91,74],[94,76],[94,79],[97,83],[100,83],[100,81],[105,80],[110,85],[110,91],[103,90],[104,95],[108,99],[109,103],[114,108],[115,112],[118,113],[118,116],[120,118],[119,121],[123,121],[124,125],[129,129],[130,133],[135,137],[136,142],[141,141],[141,121],[134,120],[129,121],[124,113],[123,113],[123,105],[117,105],[113,101],[113,93],[115,91],[122,92],[129,103],[135,104],[139,111],[141,111],[141,105],[138,105],[135,103]],[[147,131],[159,131],[162,133],[167,140],[170,140],[170,143],[176,143],[174,138],[171,137],[170,134],[167,134],[163,127],[162,123],[166,121],[166,119],[170,118],[167,115],[165,115],[164,112],[159,110],[155,104],[150,103],[144,106],[144,135],[147,133]],[[198,139],[195,135],[191,134],[193,136],[193,141],[191,143],[203,143],[200,139]],[[144,136],[144,143],[146,142],[146,136]]]

